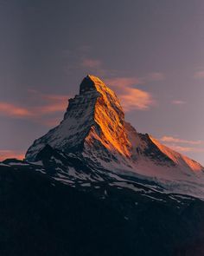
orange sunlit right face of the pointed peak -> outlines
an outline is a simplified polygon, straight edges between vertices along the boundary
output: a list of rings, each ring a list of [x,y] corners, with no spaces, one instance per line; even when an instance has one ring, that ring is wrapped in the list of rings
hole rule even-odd
[[[109,89],[99,77],[87,75],[80,84],[80,95],[98,92],[93,106],[93,119],[97,128],[93,126],[86,137],[85,146],[100,143],[108,151],[130,156],[131,143],[124,128],[124,111],[117,95]]]

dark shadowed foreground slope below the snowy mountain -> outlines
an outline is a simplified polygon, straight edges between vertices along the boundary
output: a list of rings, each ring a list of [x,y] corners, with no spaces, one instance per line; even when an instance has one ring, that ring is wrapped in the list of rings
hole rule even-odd
[[[76,189],[35,166],[12,165],[0,167],[2,256],[204,253],[201,200],[175,194],[151,200],[139,184],[135,193],[106,183],[99,191]]]

